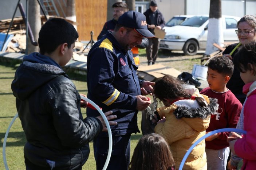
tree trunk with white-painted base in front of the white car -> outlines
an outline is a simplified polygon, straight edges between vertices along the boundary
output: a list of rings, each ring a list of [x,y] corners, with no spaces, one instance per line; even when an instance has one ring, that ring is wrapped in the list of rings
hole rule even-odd
[[[221,0],[210,0],[208,35],[205,54],[210,55],[217,48],[212,44],[223,46],[224,36],[221,19]]]

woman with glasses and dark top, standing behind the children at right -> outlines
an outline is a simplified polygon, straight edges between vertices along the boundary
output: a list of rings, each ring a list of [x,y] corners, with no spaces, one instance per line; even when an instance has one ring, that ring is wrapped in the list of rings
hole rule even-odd
[[[223,56],[230,58],[231,60],[235,56],[236,52],[239,48],[245,44],[255,42],[256,41],[256,18],[252,15],[245,15],[237,22],[237,30],[236,30],[237,37],[239,39],[239,43],[235,43],[229,45],[224,52],[222,53]],[[244,82],[240,77],[240,72],[237,68],[234,68],[233,75],[227,84],[227,88],[231,90],[236,98],[244,104],[246,95],[243,93],[243,86]],[[244,129],[244,114],[243,109],[240,114],[239,121],[237,123],[237,129]],[[237,157],[236,155],[231,154],[231,159],[228,161],[228,169],[236,169],[238,163],[240,162],[241,158]]]

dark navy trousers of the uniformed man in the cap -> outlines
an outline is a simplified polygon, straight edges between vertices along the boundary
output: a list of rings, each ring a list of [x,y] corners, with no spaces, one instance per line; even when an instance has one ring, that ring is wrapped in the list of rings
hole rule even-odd
[[[107,170],[127,170],[130,163],[131,134],[113,136],[113,147]],[[93,140],[94,158],[97,170],[102,170],[109,150],[109,137],[97,137]]]

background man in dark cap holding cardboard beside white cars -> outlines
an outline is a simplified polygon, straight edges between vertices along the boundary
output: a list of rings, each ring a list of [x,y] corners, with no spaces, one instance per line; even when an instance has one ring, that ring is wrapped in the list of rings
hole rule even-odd
[[[154,34],[154,29],[162,29],[165,26],[165,19],[162,13],[157,9],[157,3],[152,0],[149,5],[149,9],[144,12],[147,21],[147,28]],[[155,64],[157,60],[158,48],[160,39],[154,37],[149,39],[149,45],[146,48],[147,53],[147,65]]]

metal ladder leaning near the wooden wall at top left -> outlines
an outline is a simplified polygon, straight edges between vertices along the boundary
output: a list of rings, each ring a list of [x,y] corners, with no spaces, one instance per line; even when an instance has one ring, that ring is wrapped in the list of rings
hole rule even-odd
[[[66,17],[65,12],[63,11],[62,5],[60,4],[59,0],[55,0],[55,1],[58,2],[64,17]],[[67,4],[64,0],[63,0],[63,3],[65,7],[67,7]],[[54,0],[43,0],[43,8],[44,8],[44,11],[46,12],[46,15],[49,15],[49,13],[51,13],[51,15],[56,15],[58,17],[60,16],[59,11],[56,8],[56,5],[54,3]]]

